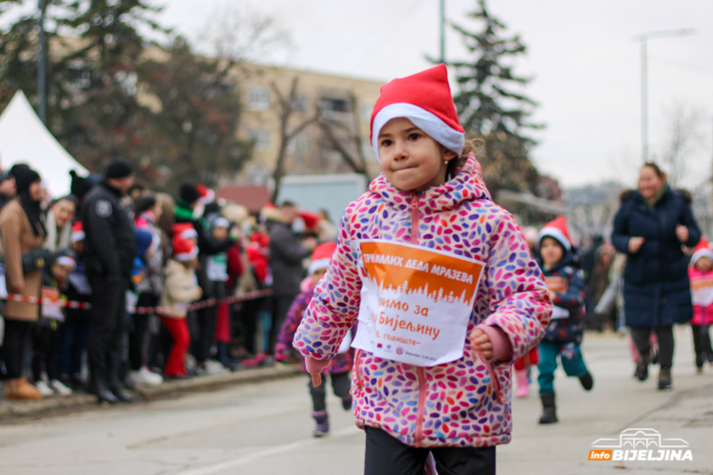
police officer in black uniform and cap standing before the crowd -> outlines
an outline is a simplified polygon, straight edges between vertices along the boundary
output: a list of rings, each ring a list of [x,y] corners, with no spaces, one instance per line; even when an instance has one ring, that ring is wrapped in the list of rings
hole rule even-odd
[[[136,238],[121,198],[134,183],[126,160],[112,160],[104,180],[87,193],[82,223],[87,234],[87,278],[92,287],[87,357],[91,390],[99,402],[131,402],[119,370],[126,333],[126,291]]]

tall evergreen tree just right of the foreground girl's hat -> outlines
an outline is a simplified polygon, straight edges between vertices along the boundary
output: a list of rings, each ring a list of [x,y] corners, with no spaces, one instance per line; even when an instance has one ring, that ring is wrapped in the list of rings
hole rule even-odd
[[[528,159],[536,144],[527,129],[543,126],[528,119],[537,105],[518,92],[530,82],[513,72],[512,63],[526,53],[518,35],[503,37],[502,21],[488,12],[485,0],[468,13],[480,27],[475,31],[453,24],[473,58],[452,61],[458,92],[454,102],[461,125],[469,136],[485,140],[485,157],[479,157],[485,184],[493,194],[500,189],[535,192],[537,169]]]

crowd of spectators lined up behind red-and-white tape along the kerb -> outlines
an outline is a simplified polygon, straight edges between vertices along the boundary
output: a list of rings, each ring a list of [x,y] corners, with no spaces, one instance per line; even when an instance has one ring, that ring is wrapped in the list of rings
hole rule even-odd
[[[50,197],[37,170],[0,173],[6,399],[130,402],[137,385],[274,360],[312,250],[336,240],[326,212],[251,214],[189,182],[153,192],[125,160],[70,175]]]

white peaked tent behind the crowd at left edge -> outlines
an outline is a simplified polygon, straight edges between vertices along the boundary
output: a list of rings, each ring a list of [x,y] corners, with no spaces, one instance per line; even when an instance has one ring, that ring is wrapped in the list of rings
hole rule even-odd
[[[37,170],[53,196],[70,192],[70,170],[80,176],[89,173],[47,130],[22,91],[0,116],[0,166],[7,170],[15,163]]]

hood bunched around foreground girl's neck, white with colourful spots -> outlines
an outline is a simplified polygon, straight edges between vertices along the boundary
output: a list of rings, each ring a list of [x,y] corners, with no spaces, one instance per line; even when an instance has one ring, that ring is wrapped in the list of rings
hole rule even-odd
[[[409,206],[411,192],[396,188],[383,173],[369,184],[369,192],[376,193],[396,209],[406,209]],[[492,201],[483,181],[483,171],[475,155],[468,157],[458,175],[451,180],[420,193],[421,209],[427,213],[446,211],[460,203],[482,199]]]

